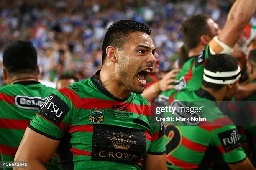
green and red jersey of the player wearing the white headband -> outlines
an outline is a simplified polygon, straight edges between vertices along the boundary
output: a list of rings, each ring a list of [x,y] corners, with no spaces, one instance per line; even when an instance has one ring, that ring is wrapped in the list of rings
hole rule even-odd
[[[214,165],[213,158],[218,152],[226,163],[238,163],[246,158],[236,126],[219,110],[212,95],[200,88],[181,91],[174,99],[174,102],[205,101],[207,112],[203,112],[203,117],[207,121],[196,126],[174,126],[166,122],[164,140],[169,168],[207,170]]]

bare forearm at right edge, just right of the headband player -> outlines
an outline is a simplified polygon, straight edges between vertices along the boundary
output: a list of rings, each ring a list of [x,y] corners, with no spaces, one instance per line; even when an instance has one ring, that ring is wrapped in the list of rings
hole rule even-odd
[[[245,98],[249,97],[253,93],[256,92],[256,85],[255,83],[250,83],[243,86],[238,86],[238,89],[235,94],[236,100],[244,100]]]

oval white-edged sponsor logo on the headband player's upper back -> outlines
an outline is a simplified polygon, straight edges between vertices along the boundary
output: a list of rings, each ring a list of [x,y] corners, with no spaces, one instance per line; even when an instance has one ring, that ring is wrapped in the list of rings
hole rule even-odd
[[[177,117],[177,121],[186,122],[188,125],[198,125],[201,122],[199,113],[194,112],[192,114],[187,112],[189,107],[184,105],[179,100],[174,100],[170,106],[173,108],[173,114]]]

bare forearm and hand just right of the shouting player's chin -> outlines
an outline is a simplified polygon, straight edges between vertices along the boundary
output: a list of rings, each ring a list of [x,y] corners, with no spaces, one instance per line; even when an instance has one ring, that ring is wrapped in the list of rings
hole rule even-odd
[[[172,85],[172,83],[175,82],[175,78],[178,75],[178,73],[179,70],[177,69],[168,72],[166,75],[164,75],[164,77],[161,80],[155,82],[154,84],[146,88],[141,95],[147,100],[155,100],[156,97],[159,96],[161,92],[165,92],[170,89],[175,89],[175,86]]]

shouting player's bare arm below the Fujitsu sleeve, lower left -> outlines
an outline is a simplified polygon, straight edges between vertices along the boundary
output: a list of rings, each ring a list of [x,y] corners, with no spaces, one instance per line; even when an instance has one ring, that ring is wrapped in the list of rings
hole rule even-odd
[[[47,138],[27,128],[14,162],[28,162],[28,167],[14,168],[13,170],[46,170],[44,164],[51,159],[59,143],[59,140]]]

